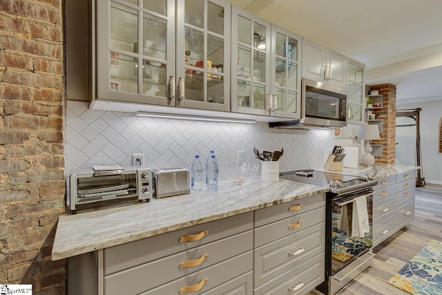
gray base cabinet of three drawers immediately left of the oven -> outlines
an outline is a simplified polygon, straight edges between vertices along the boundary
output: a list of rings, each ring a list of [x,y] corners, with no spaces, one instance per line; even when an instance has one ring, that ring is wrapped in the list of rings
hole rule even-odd
[[[253,294],[307,294],[325,280],[325,193],[255,211]]]

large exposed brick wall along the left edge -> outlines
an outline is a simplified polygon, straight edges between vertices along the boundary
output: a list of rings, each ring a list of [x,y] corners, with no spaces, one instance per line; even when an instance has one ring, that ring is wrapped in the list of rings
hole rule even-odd
[[[0,1],[0,284],[66,294],[62,0]]]

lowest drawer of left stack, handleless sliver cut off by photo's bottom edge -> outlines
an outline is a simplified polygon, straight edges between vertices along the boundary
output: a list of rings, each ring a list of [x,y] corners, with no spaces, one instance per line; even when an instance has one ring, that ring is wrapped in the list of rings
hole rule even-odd
[[[201,295],[253,295],[253,272],[247,272],[238,278],[219,285]]]

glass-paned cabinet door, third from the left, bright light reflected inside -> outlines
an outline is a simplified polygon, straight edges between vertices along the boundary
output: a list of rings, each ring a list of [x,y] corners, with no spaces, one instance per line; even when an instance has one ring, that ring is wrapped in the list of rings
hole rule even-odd
[[[270,23],[232,6],[231,39],[231,111],[270,115]]]

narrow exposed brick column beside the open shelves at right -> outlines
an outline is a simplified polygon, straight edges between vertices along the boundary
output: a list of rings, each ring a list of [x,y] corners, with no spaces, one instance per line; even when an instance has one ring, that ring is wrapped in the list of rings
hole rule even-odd
[[[374,143],[383,145],[383,155],[375,158],[376,163],[394,164],[396,156],[396,85],[387,83],[370,86],[370,89],[379,91],[379,94],[383,95],[383,109],[373,112],[376,117],[383,120],[381,140],[374,140]]]

